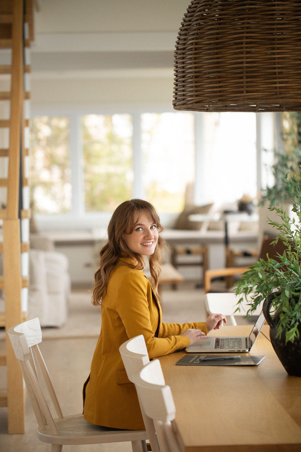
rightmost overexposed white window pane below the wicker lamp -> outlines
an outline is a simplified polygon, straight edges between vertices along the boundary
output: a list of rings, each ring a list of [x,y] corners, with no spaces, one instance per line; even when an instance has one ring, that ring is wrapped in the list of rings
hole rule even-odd
[[[207,113],[203,117],[205,199],[256,198],[255,113]]]

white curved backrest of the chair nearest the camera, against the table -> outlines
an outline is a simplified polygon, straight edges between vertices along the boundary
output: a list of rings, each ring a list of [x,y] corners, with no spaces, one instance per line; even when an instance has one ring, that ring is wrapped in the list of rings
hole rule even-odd
[[[176,407],[159,360],[141,370],[135,386],[145,414],[153,419],[160,452],[182,452],[185,447],[175,421]]]

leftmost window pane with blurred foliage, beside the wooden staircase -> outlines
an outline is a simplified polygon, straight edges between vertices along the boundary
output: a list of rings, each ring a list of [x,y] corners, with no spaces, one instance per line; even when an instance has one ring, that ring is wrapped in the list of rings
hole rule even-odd
[[[68,118],[33,118],[30,179],[34,211],[47,214],[70,212],[70,178]]]

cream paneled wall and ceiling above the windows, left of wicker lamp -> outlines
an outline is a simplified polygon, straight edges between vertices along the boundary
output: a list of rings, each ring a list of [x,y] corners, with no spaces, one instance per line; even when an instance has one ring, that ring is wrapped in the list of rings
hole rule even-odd
[[[172,104],[173,51],[187,0],[39,0],[32,108]]]

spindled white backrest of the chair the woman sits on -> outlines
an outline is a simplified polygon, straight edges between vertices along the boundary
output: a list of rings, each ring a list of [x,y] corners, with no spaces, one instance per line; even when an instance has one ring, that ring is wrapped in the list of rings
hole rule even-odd
[[[44,429],[46,425],[49,425],[52,433],[57,435],[56,425],[41,385],[44,387],[45,383],[57,417],[63,418],[63,414],[48,369],[38,346],[42,342],[40,321],[38,318],[27,320],[19,325],[12,326],[7,333],[13,346],[14,354],[19,359],[23,378],[39,427]]]

